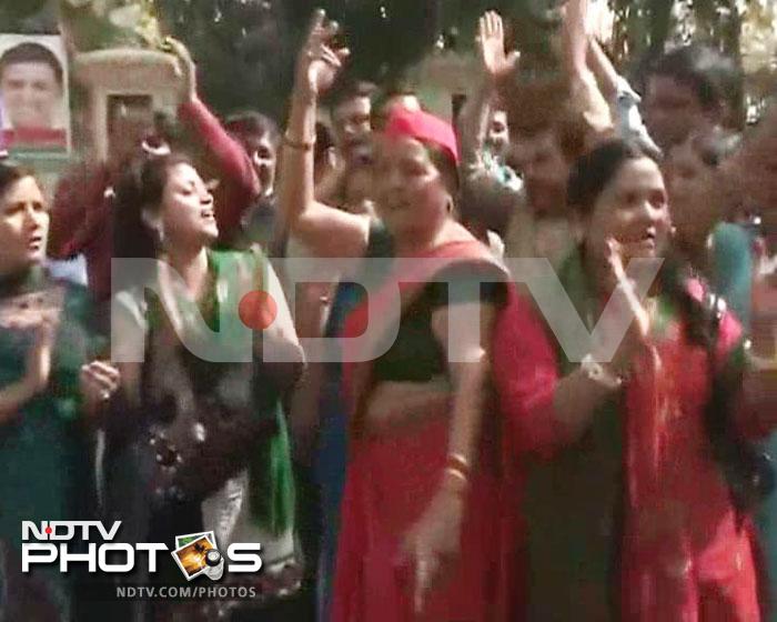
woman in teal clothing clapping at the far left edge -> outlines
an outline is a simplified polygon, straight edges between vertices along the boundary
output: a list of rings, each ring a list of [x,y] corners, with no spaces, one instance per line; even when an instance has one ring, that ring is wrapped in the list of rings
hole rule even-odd
[[[44,272],[48,231],[47,202],[32,172],[0,163],[0,540],[17,551],[22,520],[90,518],[84,415],[118,385],[111,365],[85,364],[95,350],[88,297]],[[47,569],[31,576],[46,584],[60,619],[70,619],[68,575]],[[2,604],[4,613],[22,616],[32,605]]]

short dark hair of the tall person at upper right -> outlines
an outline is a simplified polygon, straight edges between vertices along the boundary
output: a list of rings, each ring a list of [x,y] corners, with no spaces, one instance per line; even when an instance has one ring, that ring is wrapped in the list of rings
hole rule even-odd
[[[675,48],[648,69],[650,76],[666,76],[690,87],[705,110],[728,104],[738,110],[743,74],[736,63],[717,50],[699,43]]]

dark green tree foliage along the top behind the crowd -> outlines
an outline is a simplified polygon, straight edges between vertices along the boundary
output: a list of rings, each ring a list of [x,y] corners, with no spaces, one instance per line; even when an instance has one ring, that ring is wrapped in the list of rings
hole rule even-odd
[[[50,0],[54,2],[56,0]],[[183,40],[200,69],[200,87],[221,113],[240,108],[283,116],[294,57],[310,17],[323,7],[341,22],[352,51],[347,72],[382,81],[401,76],[441,41],[472,49],[477,18],[498,10],[511,44],[526,63],[553,57],[551,41],[562,0],[60,0],[81,49],[153,44],[155,16],[164,34]],[[593,0],[592,0],[593,1]],[[607,0],[615,12],[612,52],[623,69],[664,49],[667,41],[704,39],[739,56],[741,7],[758,0]],[[22,19],[46,0],[2,0],[0,19]],[[110,12],[137,4],[132,29]],[[11,14],[12,13],[12,14]]]

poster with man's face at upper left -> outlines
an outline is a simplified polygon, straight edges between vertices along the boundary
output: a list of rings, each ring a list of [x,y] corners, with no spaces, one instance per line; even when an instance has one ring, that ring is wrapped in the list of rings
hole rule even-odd
[[[0,34],[0,114],[11,151],[68,151],[68,64],[59,36]]]

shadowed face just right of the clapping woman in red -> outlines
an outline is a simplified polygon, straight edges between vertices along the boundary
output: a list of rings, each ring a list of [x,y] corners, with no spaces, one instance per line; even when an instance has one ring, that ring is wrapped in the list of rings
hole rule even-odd
[[[677,232],[682,237],[707,232],[720,218],[716,169],[702,160],[688,139],[669,152],[665,170]]]

